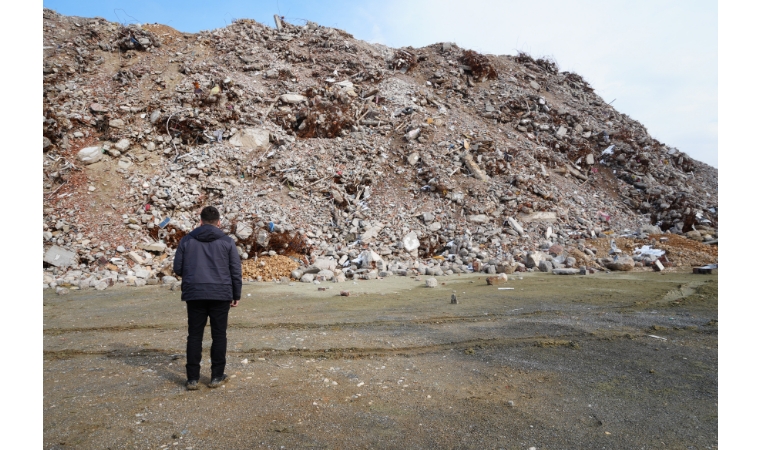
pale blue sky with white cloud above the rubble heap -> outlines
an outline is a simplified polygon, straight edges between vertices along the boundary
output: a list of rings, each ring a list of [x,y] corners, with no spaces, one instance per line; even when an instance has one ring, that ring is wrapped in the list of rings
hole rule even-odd
[[[690,0],[43,0],[65,15],[163,23],[184,32],[273,15],[343,29],[391,47],[456,42],[494,55],[526,52],[580,74],[649,134],[718,167],[718,3]]]

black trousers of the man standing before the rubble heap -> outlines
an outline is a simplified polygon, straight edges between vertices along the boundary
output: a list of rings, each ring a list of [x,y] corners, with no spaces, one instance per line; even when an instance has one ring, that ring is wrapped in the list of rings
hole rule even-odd
[[[203,329],[211,321],[211,378],[221,377],[227,364],[227,316],[230,304],[221,300],[188,300],[187,370],[188,380],[199,380],[203,353]]]

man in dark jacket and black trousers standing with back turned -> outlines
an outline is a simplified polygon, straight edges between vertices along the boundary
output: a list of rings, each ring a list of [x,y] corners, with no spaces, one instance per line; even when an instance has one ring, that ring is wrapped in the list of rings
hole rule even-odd
[[[219,229],[219,211],[206,206],[201,225],[183,237],[174,254],[174,273],[182,277],[182,301],[187,305],[187,383],[198,389],[203,329],[211,319],[211,383],[227,381],[227,315],[237,306],[243,276],[235,241]]]

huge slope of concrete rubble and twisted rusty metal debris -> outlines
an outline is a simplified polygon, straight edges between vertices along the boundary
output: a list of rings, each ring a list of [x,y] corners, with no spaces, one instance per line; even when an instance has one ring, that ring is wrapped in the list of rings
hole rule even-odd
[[[627,270],[657,257],[598,238],[662,233],[717,262],[717,169],[552,61],[279,18],[198,34],[43,19],[44,285],[60,292],[176,283],[207,204],[258,279]]]

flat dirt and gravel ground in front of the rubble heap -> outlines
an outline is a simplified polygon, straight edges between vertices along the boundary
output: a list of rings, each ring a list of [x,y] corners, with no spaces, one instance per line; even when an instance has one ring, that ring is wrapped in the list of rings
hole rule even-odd
[[[44,448],[717,448],[717,275],[515,275],[246,284],[194,392],[179,292],[46,290]]]

